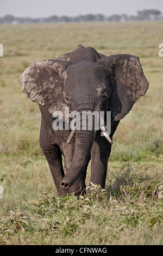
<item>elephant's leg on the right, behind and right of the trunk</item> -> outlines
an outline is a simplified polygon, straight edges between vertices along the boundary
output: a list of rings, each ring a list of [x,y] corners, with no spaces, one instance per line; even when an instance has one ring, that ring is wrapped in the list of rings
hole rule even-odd
[[[91,149],[91,178],[93,184],[105,187],[108,159],[111,152],[111,145],[107,139],[101,136],[101,131],[97,132],[95,141]],[[90,183],[91,186],[91,183]]]

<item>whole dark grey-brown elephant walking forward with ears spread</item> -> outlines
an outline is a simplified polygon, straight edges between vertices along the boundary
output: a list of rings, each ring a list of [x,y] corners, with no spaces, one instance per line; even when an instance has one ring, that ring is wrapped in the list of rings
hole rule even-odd
[[[149,83],[139,57],[130,54],[105,56],[93,47],[78,45],[72,52],[54,59],[33,62],[18,78],[22,91],[39,104],[41,111],[40,147],[52,173],[59,197],[86,191],[85,179],[91,161],[90,185],[105,188],[112,136],[120,120],[145,95]],[[105,126],[92,129],[53,129],[64,112],[110,113],[110,134]],[[57,112],[58,113],[58,112]],[[95,118],[92,118],[95,123]],[[93,125],[92,125],[93,126]],[[102,136],[102,131],[105,136]],[[64,160],[62,160],[64,156]]]

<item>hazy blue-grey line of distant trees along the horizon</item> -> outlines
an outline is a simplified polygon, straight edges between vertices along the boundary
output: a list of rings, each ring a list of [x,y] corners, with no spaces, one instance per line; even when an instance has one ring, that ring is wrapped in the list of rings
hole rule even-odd
[[[64,23],[64,22],[101,22],[101,21],[151,21],[163,20],[161,11],[155,9],[137,11],[137,15],[127,14],[113,14],[105,16],[103,14],[86,14],[78,15],[76,17],[57,16],[52,15],[45,18],[31,18],[31,17],[15,17],[13,15],[6,15],[0,17],[1,24],[16,24],[16,23]]]

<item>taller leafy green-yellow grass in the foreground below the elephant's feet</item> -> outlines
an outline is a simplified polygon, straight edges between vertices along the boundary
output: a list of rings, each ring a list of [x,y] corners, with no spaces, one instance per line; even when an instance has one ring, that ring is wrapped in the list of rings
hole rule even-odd
[[[38,180],[32,180],[32,187],[24,187],[19,179],[10,185],[14,193],[5,193],[0,241],[7,245],[162,244],[158,186],[163,179],[146,178],[123,166],[120,173],[111,174],[105,191],[94,185],[92,194],[79,199],[73,195],[59,198],[50,187],[41,185],[36,196],[33,183]]]

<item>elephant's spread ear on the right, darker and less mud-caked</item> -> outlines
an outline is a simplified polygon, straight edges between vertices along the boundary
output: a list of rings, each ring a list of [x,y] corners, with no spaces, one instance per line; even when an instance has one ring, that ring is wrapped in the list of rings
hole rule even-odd
[[[104,65],[110,72],[110,111],[115,121],[121,120],[136,100],[145,95],[149,86],[139,58],[129,54],[116,54],[101,58],[97,63]]]

